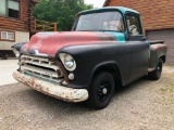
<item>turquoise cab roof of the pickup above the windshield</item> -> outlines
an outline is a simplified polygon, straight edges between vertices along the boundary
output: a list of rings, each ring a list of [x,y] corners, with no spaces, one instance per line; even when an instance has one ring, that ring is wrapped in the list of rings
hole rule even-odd
[[[132,10],[132,9],[128,9],[128,8],[124,8],[124,6],[105,6],[105,8],[100,8],[100,9],[92,9],[92,10],[83,11],[83,12],[79,12],[77,15],[95,13],[95,12],[100,12],[100,11],[113,11],[113,10],[119,10],[123,15],[126,12],[133,12],[133,13],[139,14],[139,12]]]

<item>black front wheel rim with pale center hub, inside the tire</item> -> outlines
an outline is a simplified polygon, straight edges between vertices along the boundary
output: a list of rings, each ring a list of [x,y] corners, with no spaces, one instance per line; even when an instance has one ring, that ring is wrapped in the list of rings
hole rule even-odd
[[[107,80],[102,80],[99,83],[98,92],[97,92],[97,99],[99,102],[103,103],[111,93],[111,82]]]

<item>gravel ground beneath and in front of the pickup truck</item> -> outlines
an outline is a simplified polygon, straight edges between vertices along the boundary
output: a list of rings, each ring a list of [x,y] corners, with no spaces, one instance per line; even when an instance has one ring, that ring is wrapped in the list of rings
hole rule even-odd
[[[160,80],[146,77],[115,92],[92,110],[36,92],[24,84],[0,87],[0,130],[174,130],[174,67]]]

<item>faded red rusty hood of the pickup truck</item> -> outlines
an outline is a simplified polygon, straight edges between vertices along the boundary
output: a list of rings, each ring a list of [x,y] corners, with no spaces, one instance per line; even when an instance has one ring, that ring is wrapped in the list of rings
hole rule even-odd
[[[58,50],[66,46],[104,43],[115,41],[113,35],[91,31],[39,32],[32,37],[23,48],[23,52],[38,50],[39,53],[54,56]]]

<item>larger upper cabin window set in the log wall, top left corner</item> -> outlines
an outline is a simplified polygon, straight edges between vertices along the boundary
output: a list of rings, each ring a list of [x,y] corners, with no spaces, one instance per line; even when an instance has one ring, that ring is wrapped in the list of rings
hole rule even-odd
[[[20,18],[20,0],[0,0],[0,15]]]

